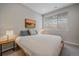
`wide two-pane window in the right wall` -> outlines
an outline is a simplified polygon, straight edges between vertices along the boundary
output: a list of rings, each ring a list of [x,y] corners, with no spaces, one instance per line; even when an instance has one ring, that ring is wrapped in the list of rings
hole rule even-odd
[[[46,17],[44,19],[44,28],[52,30],[67,29],[67,12]]]

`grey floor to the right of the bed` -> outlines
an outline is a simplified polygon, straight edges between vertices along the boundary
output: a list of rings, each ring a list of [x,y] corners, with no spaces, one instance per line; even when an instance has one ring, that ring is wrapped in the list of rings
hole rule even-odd
[[[75,45],[64,42],[62,56],[79,56],[79,44]]]

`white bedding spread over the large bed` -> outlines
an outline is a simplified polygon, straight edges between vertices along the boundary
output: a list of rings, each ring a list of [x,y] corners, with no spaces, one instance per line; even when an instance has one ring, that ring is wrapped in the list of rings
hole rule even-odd
[[[18,37],[15,42],[32,56],[58,56],[61,41],[60,36],[38,34]]]

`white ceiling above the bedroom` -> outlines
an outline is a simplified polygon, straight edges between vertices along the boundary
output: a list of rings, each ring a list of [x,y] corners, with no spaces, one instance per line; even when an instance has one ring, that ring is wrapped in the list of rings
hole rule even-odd
[[[70,6],[72,3],[23,3],[23,5],[43,15]]]

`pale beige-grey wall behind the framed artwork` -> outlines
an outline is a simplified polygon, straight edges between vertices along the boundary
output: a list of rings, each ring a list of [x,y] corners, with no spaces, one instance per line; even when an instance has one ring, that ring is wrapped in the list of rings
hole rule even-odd
[[[8,29],[18,33],[25,30],[24,19],[34,18],[36,20],[36,29],[42,27],[42,17],[40,14],[23,6],[22,4],[0,4],[0,35],[4,35]]]

